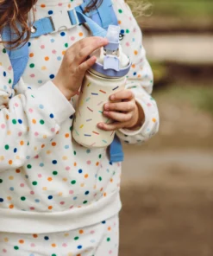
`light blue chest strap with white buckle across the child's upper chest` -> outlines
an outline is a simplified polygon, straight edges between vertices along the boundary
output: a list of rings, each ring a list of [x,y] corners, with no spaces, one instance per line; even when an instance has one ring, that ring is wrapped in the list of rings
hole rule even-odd
[[[91,29],[92,35],[104,37],[110,24],[117,25],[118,22],[111,0],[103,0],[101,6],[85,15],[83,12],[86,5],[86,3],[83,3],[73,10],[62,11],[57,15],[48,16],[34,22],[34,32],[31,34],[31,38],[57,32],[61,28],[71,29],[85,22]]]

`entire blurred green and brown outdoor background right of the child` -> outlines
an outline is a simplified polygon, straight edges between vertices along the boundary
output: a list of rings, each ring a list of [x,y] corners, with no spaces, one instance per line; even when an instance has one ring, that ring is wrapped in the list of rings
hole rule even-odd
[[[125,147],[120,255],[212,256],[213,1],[151,3],[137,20],[160,131]]]

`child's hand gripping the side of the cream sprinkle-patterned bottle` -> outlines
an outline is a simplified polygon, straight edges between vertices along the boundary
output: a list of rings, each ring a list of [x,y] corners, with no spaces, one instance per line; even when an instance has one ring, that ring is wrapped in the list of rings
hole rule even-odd
[[[116,131],[121,128],[134,130],[144,121],[144,112],[135,102],[134,93],[122,90],[110,96],[112,102],[106,103],[103,115],[115,120],[113,124],[99,123],[98,127],[105,131]],[[113,102],[114,101],[114,102]]]

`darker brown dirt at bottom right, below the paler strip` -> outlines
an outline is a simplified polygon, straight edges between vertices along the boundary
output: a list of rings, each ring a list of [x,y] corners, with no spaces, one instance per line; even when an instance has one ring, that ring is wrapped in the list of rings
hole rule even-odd
[[[183,186],[191,176],[178,170],[168,176],[122,189],[120,256],[213,255],[213,175],[193,176],[202,188]]]

